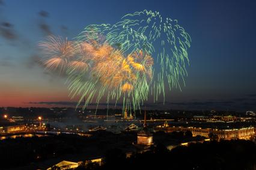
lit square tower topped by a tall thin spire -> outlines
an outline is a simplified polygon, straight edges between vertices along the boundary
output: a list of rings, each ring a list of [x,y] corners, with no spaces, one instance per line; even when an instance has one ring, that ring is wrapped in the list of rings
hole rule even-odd
[[[152,133],[147,131],[147,116],[146,111],[144,113],[144,130],[141,130],[141,132],[138,133],[138,145],[153,145],[153,135]]]

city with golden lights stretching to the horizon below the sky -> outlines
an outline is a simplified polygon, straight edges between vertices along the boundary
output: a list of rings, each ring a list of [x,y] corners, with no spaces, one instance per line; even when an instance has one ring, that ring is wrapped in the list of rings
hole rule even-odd
[[[2,141],[75,135],[90,140],[96,138],[104,143],[113,140],[110,136],[114,135],[119,136],[114,139],[118,144],[114,142],[112,145],[123,150],[126,157],[150,151],[159,141],[171,151],[179,146],[210,141],[243,139],[255,142],[256,134],[256,115],[252,111],[141,110],[135,113],[118,109],[99,109],[96,112],[95,109],[74,108],[0,108],[0,115]],[[166,139],[163,133],[172,134],[172,137]],[[102,139],[99,134],[107,136]],[[98,149],[87,156],[79,155],[77,159],[62,162],[53,153],[53,156],[47,156],[52,162],[42,165],[44,159],[40,152],[37,154],[35,166],[41,169],[54,169],[55,166],[77,168],[81,162],[102,165],[105,159],[105,154]]]

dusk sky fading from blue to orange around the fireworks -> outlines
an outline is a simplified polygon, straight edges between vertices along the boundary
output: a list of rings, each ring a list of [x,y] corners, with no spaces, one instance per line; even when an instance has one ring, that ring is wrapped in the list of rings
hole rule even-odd
[[[151,108],[256,110],[256,1],[0,1],[0,107],[72,106],[66,77],[38,64],[49,34],[76,37],[135,11],[177,19],[192,38],[186,87]],[[102,101],[103,103],[104,101]],[[65,105],[57,105],[65,104]]]

